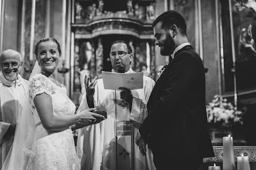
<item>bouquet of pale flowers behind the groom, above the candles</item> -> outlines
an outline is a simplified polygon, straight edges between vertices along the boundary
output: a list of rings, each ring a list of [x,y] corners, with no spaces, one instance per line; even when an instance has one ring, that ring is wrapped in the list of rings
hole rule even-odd
[[[206,106],[206,111],[208,122],[220,124],[222,128],[230,128],[235,124],[243,124],[243,113],[220,95],[214,96],[212,102]]]

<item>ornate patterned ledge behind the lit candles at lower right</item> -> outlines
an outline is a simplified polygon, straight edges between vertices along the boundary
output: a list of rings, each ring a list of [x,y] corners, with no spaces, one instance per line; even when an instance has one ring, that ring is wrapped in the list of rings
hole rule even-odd
[[[222,162],[223,158],[223,147],[213,147],[214,148],[214,155],[215,157],[207,157],[204,158],[204,163],[218,163]],[[251,147],[244,147],[244,146],[234,146],[234,155],[235,161],[237,160],[238,156],[241,156],[243,153],[244,156],[249,156],[250,162],[256,162],[256,146]]]

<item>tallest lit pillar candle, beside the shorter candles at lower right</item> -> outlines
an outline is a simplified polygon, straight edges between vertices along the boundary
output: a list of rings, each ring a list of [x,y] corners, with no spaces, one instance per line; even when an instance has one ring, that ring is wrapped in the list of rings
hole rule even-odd
[[[233,138],[223,137],[223,170],[235,170]]]

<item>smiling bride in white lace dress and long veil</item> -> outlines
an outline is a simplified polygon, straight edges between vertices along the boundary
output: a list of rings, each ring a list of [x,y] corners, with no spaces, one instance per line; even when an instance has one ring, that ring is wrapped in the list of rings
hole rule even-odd
[[[13,148],[2,169],[78,169],[72,130],[104,117],[93,109],[75,113],[67,89],[55,77],[61,49],[55,38],[42,38],[35,48],[36,65],[18,121]],[[95,86],[96,81],[91,82]]]

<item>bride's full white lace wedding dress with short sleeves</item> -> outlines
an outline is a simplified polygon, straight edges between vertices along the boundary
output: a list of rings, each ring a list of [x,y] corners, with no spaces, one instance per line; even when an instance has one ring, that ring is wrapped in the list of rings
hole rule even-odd
[[[44,129],[34,106],[34,97],[46,93],[52,97],[53,115],[68,116],[75,113],[75,104],[68,98],[64,85],[58,86],[42,74],[29,80],[29,104],[32,106],[36,125],[36,143],[33,155],[29,157],[27,169],[78,169],[75,143],[71,128],[58,132]]]

